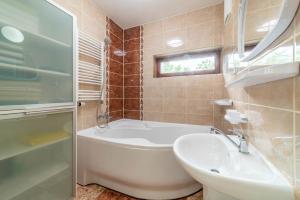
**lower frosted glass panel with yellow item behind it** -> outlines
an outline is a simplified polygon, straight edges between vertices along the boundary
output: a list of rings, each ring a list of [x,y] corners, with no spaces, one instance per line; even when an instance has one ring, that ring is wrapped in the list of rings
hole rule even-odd
[[[1,199],[72,196],[73,113],[0,121]]]

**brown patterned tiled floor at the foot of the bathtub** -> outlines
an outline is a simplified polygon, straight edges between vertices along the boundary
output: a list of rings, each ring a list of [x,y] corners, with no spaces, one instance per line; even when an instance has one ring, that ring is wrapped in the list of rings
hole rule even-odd
[[[179,200],[202,200],[202,191]],[[136,200],[124,194],[103,188],[99,185],[80,186],[77,185],[76,200]]]

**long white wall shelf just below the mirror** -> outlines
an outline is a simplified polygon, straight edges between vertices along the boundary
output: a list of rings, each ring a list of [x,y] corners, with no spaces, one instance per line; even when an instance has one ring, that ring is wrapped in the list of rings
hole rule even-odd
[[[291,78],[299,74],[299,63],[287,63],[268,66],[254,66],[241,71],[225,86],[249,87],[281,79]]]

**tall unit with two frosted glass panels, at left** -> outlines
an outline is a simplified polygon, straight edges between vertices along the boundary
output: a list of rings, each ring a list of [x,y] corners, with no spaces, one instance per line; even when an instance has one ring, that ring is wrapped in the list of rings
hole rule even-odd
[[[74,194],[76,19],[50,1],[0,1],[0,199]]]

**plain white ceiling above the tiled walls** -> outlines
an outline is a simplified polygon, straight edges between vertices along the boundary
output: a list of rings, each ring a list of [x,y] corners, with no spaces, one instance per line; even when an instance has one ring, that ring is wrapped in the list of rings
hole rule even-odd
[[[223,0],[94,0],[122,28],[213,5]]]

